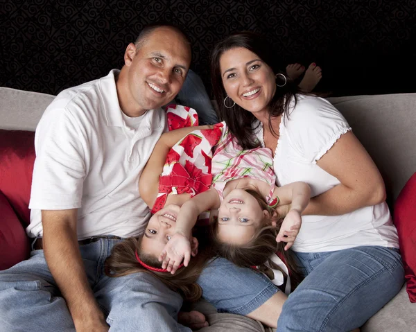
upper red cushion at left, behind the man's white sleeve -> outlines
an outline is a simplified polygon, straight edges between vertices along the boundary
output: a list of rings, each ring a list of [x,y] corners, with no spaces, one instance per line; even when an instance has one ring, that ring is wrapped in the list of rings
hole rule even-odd
[[[0,191],[17,216],[29,224],[35,132],[0,130]]]

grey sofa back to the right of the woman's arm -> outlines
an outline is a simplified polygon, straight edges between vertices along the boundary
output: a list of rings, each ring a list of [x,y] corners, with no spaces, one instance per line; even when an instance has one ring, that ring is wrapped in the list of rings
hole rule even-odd
[[[416,171],[416,94],[328,98],[345,116],[385,181],[388,203]]]

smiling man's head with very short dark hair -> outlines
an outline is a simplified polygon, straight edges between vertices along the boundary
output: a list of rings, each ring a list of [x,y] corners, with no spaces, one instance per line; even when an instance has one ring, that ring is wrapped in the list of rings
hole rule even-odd
[[[190,62],[187,40],[169,27],[155,29],[138,48],[129,44],[125,54],[128,108],[142,113],[172,101],[182,89]]]

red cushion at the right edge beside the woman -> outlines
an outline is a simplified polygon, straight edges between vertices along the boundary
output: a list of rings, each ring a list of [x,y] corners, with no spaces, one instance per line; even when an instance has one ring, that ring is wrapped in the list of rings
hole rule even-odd
[[[406,290],[416,302],[416,173],[410,177],[395,202],[395,225],[404,262]]]

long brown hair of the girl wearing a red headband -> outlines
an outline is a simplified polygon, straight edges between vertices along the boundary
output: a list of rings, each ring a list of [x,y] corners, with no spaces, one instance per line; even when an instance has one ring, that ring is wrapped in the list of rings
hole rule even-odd
[[[209,258],[211,258],[207,247],[202,243],[202,247],[198,248],[198,255],[191,258],[186,268],[180,268],[175,274],[154,272],[144,268],[136,259],[135,251],[137,250],[141,261],[155,268],[162,268],[162,262],[159,262],[157,257],[141,252],[141,238],[143,238],[143,235],[137,238],[128,238],[114,245],[112,254],[105,260],[105,274],[109,277],[122,277],[137,272],[152,274],[168,288],[179,292],[187,301],[197,301],[202,296],[202,289],[196,283],[196,280]]]

